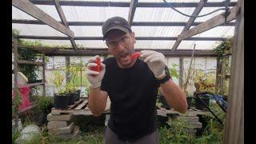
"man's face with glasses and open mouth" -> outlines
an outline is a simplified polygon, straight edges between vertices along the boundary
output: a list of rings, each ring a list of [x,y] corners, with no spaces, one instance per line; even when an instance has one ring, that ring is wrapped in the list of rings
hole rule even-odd
[[[106,35],[106,45],[110,54],[117,59],[118,65],[126,68],[132,66],[131,54],[134,54],[134,32],[126,34],[122,30],[110,30]]]

